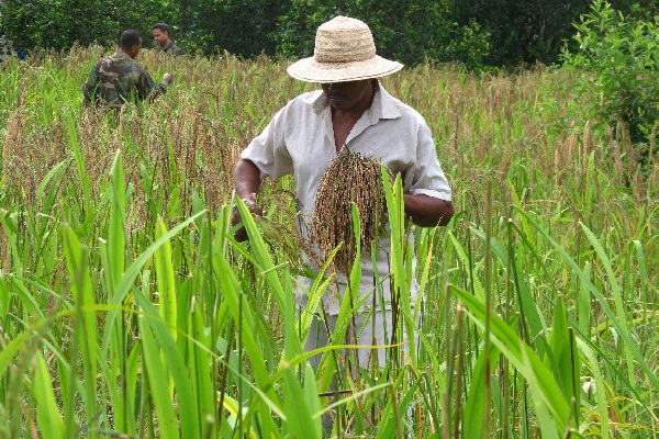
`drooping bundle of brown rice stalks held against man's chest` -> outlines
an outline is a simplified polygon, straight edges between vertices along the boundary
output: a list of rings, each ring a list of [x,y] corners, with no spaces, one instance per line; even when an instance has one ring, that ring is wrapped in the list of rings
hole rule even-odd
[[[330,162],[323,175],[311,222],[311,238],[323,260],[343,243],[333,263],[339,272],[349,272],[356,256],[351,203],[359,210],[362,249],[370,249],[371,243],[377,243],[386,230],[387,201],[380,179],[378,160],[347,148]]]

